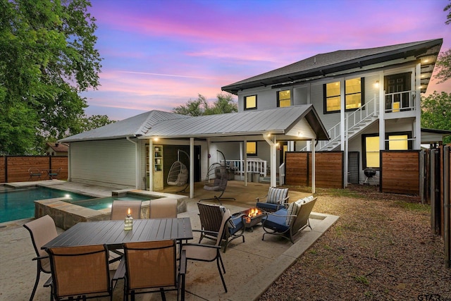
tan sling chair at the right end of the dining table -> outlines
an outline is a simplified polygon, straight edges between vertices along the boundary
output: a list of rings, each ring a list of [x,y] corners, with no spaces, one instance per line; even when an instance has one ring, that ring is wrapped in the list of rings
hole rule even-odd
[[[216,244],[215,245],[204,245],[199,243],[185,243],[183,244],[182,250],[186,251],[186,258],[191,260],[197,260],[201,262],[214,262],[216,260],[216,266],[218,266],[219,276],[221,276],[221,281],[223,282],[224,290],[227,293],[226,281],[224,281],[223,273],[221,272],[221,266],[223,268],[224,274],[226,274],[226,269],[224,268],[223,259],[221,259],[221,237],[223,231],[226,228],[226,223],[230,219],[230,212],[224,212],[223,219],[221,221],[221,228],[216,233]],[[193,230],[198,232],[205,232],[199,230]],[[219,263],[221,262],[221,266]]]

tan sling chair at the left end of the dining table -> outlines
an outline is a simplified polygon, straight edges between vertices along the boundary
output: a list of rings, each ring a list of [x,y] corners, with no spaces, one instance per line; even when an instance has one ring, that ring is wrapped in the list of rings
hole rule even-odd
[[[36,260],[37,262],[37,274],[35,286],[33,287],[30,296],[30,301],[32,301],[33,297],[35,297],[37,283],[39,283],[39,276],[41,275],[41,272],[50,274],[49,256],[45,250],[41,249],[41,247],[50,240],[56,238],[58,233],[56,232],[54,220],[48,215],[29,221],[23,226],[28,230],[28,232],[30,232],[33,247],[35,248],[37,256],[33,258],[33,260]]]

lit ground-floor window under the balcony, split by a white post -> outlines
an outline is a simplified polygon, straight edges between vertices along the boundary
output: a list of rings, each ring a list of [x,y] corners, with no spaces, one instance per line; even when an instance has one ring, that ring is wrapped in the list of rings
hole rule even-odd
[[[376,134],[377,135],[377,134]],[[385,134],[385,149],[405,150],[412,149],[411,132]],[[379,168],[379,136],[363,135],[363,166],[364,168]]]

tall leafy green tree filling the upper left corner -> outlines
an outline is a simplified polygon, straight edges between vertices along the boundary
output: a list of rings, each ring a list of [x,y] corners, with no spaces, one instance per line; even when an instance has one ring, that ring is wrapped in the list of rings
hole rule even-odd
[[[0,154],[41,154],[79,133],[99,85],[95,19],[87,0],[0,0]]]

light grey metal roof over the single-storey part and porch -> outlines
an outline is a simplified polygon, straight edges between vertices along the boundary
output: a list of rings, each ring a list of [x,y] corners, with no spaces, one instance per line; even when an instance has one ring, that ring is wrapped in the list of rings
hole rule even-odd
[[[306,128],[308,126],[309,128]],[[106,140],[123,137],[206,138],[262,135],[290,135],[293,128],[312,131],[317,140],[328,140],[323,123],[311,104],[261,111],[244,111],[209,116],[184,116],[163,111],[149,111],[73,135],[61,142]],[[291,137],[293,138],[293,137]],[[294,137],[299,140],[299,137]]]

